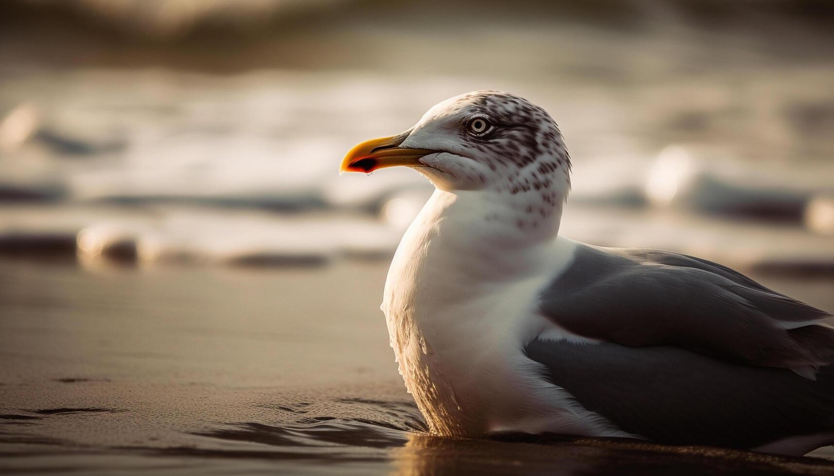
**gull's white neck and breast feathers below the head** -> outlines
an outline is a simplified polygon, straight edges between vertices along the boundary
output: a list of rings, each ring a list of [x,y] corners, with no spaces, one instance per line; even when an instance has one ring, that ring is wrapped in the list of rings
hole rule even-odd
[[[436,190],[405,233],[382,304],[405,385],[434,433],[633,437],[523,352],[538,336],[580,338],[535,312],[574,255],[575,242],[556,238],[560,205],[553,227],[530,233],[515,226],[520,200],[530,197]]]

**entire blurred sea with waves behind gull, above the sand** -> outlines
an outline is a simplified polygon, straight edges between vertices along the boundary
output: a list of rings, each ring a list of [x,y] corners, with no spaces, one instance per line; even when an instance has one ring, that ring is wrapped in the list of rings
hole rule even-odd
[[[565,133],[568,236],[829,273],[831,23],[812,0],[3,3],[0,253],[388,258],[430,185],[339,158],[503,88]]]

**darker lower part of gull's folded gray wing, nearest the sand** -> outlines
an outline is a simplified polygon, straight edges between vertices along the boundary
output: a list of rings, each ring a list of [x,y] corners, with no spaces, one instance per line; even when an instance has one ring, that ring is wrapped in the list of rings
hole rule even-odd
[[[525,352],[585,408],[658,443],[756,448],[821,435],[816,448],[834,441],[831,367],[809,380],[669,346],[536,339]]]

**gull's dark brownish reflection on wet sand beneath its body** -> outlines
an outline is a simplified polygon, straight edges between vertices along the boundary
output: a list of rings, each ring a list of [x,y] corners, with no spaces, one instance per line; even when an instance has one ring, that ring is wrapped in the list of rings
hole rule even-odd
[[[721,448],[580,439],[505,442],[409,434],[394,450],[394,473],[437,474],[832,474],[834,463]]]

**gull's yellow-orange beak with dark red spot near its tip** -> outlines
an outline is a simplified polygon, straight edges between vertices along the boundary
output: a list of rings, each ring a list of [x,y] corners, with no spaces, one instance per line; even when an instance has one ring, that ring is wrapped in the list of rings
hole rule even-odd
[[[339,167],[339,175],[344,172],[370,173],[378,168],[425,167],[420,158],[437,152],[427,148],[399,148],[408,134],[399,134],[389,138],[378,138],[357,144],[344,156]]]

